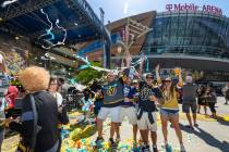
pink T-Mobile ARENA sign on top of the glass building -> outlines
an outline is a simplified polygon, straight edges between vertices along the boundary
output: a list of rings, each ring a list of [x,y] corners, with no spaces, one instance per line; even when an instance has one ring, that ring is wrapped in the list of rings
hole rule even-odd
[[[169,12],[182,12],[182,11],[203,11],[206,13],[212,13],[216,15],[222,15],[221,9],[214,7],[214,5],[208,5],[204,4],[203,7],[195,5],[194,3],[179,3],[179,4],[166,4],[166,10]]]

